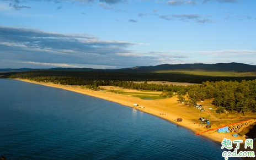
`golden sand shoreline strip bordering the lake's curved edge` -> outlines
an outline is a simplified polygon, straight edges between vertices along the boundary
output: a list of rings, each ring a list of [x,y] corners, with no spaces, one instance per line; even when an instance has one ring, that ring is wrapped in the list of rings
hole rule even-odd
[[[48,87],[55,87],[57,89],[77,92],[77,93],[81,93],[83,95],[97,97],[97,98],[100,98],[100,99],[103,99],[106,101],[119,103],[123,106],[135,108],[138,111],[154,115],[158,118],[162,118],[162,119],[167,120],[168,122],[173,123],[177,126],[182,126],[183,128],[193,131],[194,134],[199,131],[205,130],[204,128],[195,124],[195,119],[190,118],[192,115],[190,117],[185,116],[185,115],[183,115],[183,111],[179,111],[179,109],[177,111],[176,108],[175,108],[176,110],[174,110],[172,108],[167,108],[167,106],[166,106],[167,102],[170,102],[170,106],[176,106],[176,107],[182,106],[182,104],[178,104],[176,102],[177,99],[174,99],[174,98],[167,98],[167,100],[164,99],[167,102],[165,102],[164,100],[141,100],[140,98],[137,98],[137,97],[119,95],[119,94],[111,93],[111,92],[106,93],[106,92],[102,92],[102,91],[93,91],[93,90],[89,90],[89,89],[82,89],[81,86],[78,87],[78,86],[68,86],[68,85],[57,85],[57,84],[52,84],[50,82],[36,82],[36,81],[28,80],[28,79],[12,79],[12,80],[29,82],[32,84],[48,86]],[[170,99],[172,99],[172,100],[170,100]],[[138,104],[140,106],[145,106],[145,108],[139,108],[139,107],[132,106],[132,104],[134,104],[135,102],[138,102]],[[161,104],[164,104],[164,106]],[[189,114],[191,114],[191,113],[189,113]],[[174,119],[177,119],[177,118],[182,118],[183,122],[175,123]],[[224,138],[230,139],[230,140],[238,140],[238,139],[245,140],[245,138],[242,136],[233,137],[232,134],[212,133],[212,134],[206,134],[206,135],[200,135],[200,136],[207,140],[211,140],[219,145],[221,144],[221,142]]]

